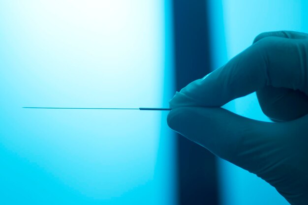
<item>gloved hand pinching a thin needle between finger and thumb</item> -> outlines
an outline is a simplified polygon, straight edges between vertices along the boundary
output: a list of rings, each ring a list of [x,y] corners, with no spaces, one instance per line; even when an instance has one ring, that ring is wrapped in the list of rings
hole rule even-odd
[[[279,122],[220,108],[254,91],[265,115]],[[291,205],[308,205],[308,34],[261,33],[169,103],[173,130],[263,178]]]

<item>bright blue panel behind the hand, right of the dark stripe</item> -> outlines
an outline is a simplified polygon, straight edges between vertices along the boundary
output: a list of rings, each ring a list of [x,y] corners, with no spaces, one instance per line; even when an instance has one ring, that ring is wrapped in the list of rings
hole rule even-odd
[[[213,36],[211,49],[216,68],[246,49],[261,32],[308,32],[307,0],[213,0],[209,11]],[[224,107],[239,115],[269,121],[262,113],[255,93]],[[271,185],[223,160],[219,160],[219,180],[222,205],[288,205]]]

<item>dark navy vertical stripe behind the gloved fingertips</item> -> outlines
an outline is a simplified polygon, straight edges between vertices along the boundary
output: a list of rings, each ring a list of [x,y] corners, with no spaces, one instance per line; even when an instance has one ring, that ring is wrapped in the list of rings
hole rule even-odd
[[[173,0],[175,83],[179,91],[211,70],[206,0]],[[217,205],[216,158],[183,136],[177,137],[180,205]]]

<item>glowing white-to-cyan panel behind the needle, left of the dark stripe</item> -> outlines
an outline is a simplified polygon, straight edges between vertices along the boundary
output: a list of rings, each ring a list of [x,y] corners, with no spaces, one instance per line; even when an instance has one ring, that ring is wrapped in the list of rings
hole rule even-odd
[[[163,0],[0,1],[0,204],[173,204]],[[166,18],[165,18],[166,17]]]

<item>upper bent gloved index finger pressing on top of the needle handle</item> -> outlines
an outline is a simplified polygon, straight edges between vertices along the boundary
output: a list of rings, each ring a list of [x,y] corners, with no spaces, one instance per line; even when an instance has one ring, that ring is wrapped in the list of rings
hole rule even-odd
[[[220,107],[265,86],[308,95],[308,37],[305,33],[285,33],[287,37],[283,33],[257,36],[253,45],[225,65],[176,92],[170,108]]]

